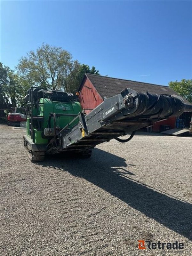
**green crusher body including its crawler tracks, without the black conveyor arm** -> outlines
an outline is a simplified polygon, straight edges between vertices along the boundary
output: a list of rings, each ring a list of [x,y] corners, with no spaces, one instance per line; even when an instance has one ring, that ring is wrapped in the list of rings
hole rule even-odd
[[[27,100],[27,135],[24,136],[24,146],[32,161],[42,161],[54,129],[67,126],[82,108],[76,96],[62,91],[31,87],[24,99]],[[68,129],[77,123],[76,119],[68,125]]]

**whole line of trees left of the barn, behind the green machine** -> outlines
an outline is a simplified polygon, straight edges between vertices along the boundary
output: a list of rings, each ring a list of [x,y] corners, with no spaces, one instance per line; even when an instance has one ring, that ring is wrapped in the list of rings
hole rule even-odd
[[[42,44],[21,57],[17,73],[0,62],[0,102],[23,106],[22,98],[30,86],[77,92],[84,73],[100,75],[94,66],[73,61],[61,47]]]

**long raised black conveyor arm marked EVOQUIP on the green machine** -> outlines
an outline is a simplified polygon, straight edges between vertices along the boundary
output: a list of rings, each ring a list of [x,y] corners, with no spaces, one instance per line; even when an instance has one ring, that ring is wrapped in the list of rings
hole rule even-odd
[[[192,105],[184,104],[181,97],[139,93],[128,88],[104,100],[88,115],[80,112],[76,117],[79,123],[71,129],[67,125],[58,131],[50,141],[47,153],[92,149],[97,144],[189,111],[192,111]]]

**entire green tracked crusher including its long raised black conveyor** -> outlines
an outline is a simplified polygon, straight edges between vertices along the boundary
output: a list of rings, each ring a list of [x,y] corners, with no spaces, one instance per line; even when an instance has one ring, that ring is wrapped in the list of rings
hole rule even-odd
[[[130,88],[104,98],[88,115],[72,93],[31,87],[24,98],[27,100],[24,147],[32,161],[67,152],[90,157],[92,149],[100,143],[111,139],[127,142],[140,128],[192,111],[192,105],[184,104],[179,96],[141,93]],[[129,133],[130,138],[119,138]]]

